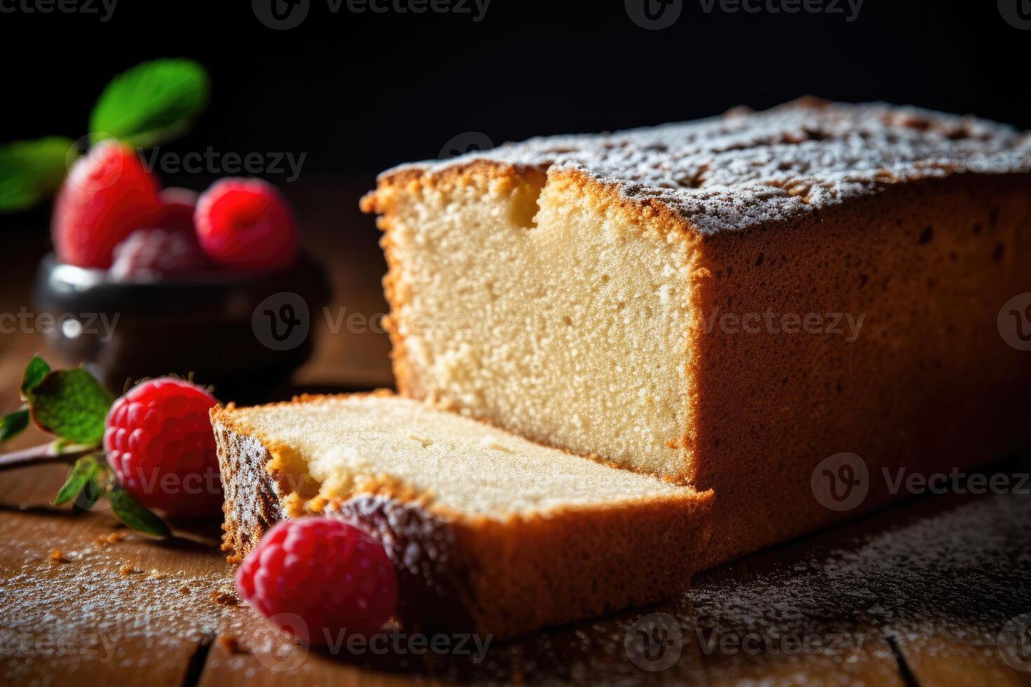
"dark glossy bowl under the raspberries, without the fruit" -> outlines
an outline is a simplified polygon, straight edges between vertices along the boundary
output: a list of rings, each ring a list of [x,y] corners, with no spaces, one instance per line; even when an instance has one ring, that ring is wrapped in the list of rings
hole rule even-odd
[[[274,272],[114,281],[47,255],[35,288],[47,343],[112,391],[143,377],[193,374],[224,399],[287,380],[311,354],[329,298],[325,270],[306,256]]]

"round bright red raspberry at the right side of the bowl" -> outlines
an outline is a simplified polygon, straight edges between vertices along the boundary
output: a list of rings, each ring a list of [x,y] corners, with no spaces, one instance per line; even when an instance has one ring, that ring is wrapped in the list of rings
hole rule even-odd
[[[287,267],[297,252],[297,221],[279,192],[261,179],[217,181],[197,201],[200,244],[215,263],[258,270]]]

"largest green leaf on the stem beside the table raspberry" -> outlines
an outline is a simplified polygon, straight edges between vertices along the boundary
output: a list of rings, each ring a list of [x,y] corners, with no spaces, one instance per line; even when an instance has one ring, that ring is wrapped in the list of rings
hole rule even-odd
[[[41,430],[87,446],[103,439],[104,419],[113,402],[81,368],[51,372],[29,391],[32,417]]]

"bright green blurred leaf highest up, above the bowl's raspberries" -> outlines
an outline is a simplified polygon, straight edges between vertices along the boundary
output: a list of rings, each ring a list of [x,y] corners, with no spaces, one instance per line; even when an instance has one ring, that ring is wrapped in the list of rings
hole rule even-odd
[[[93,142],[114,137],[149,147],[187,130],[207,105],[207,71],[192,60],[144,62],[107,84],[93,108]]]

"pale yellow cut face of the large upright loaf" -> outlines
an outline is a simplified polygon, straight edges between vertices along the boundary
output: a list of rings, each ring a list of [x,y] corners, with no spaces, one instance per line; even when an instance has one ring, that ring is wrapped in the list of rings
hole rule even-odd
[[[668,212],[575,171],[487,163],[365,205],[384,213],[402,394],[689,481],[695,238]]]

